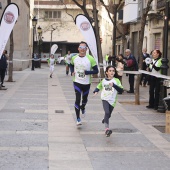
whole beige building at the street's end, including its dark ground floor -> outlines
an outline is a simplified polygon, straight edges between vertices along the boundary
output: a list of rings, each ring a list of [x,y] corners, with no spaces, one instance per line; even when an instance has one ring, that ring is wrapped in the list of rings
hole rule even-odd
[[[81,1],[80,1],[81,2]],[[75,25],[75,18],[83,11],[71,0],[44,1],[35,0],[34,12],[38,18],[38,25],[43,30],[43,44],[41,56],[49,55],[50,47],[58,45],[56,54],[64,56],[67,51],[78,52],[78,43],[85,41],[80,30]],[[87,1],[87,10],[92,17],[91,1]],[[111,30],[106,11],[102,11],[98,4],[100,20],[100,37],[102,39],[103,56],[111,52]],[[110,25],[109,25],[110,24]],[[110,30],[110,32],[109,32]],[[37,49],[38,51],[38,49]]]

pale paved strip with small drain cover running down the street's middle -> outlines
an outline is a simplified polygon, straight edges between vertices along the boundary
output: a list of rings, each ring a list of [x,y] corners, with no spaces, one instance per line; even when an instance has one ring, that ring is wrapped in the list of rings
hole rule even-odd
[[[53,84],[57,86],[52,86]],[[92,170],[90,158],[76,129],[59,80],[49,79],[48,86],[49,169]],[[57,96],[61,97],[60,100]],[[64,114],[55,113],[55,110],[60,109],[64,111]],[[62,137],[64,141],[61,140]]]

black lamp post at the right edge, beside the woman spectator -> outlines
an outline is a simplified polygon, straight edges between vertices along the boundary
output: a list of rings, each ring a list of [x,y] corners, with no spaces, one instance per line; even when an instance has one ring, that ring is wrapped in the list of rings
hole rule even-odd
[[[169,28],[169,19],[170,19],[170,2],[167,1],[165,4],[165,17],[164,17],[164,35],[163,35],[163,58],[162,58],[162,74],[167,75],[168,72],[168,28]],[[163,85],[163,79],[161,80],[161,88],[160,88],[160,97],[159,97],[159,106],[158,112],[164,113],[165,112],[165,105],[163,103],[163,98],[166,97],[167,87]]]

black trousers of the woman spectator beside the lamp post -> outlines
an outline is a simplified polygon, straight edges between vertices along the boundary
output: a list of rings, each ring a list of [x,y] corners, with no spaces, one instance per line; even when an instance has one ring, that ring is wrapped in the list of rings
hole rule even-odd
[[[152,106],[155,109],[157,109],[159,105],[160,81],[160,78],[154,76],[150,77],[149,106]]]

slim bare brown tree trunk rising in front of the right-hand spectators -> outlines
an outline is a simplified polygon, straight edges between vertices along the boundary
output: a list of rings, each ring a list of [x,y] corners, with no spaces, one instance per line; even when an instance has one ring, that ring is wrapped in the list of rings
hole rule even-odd
[[[148,12],[150,10],[150,5],[152,3],[153,0],[148,0],[147,2],[147,6],[145,9],[143,9],[143,14],[141,16],[141,29],[140,29],[140,38],[139,38],[139,44],[138,44],[138,56],[139,56],[139,69],[142,69],[142,62],[143,62],[143,54],[142,54],[142,48],[143,48],[143,38],[144,38],[144,31],[145,31],[145,25],[146,25],[146,17],[148,15]],[[140,79],[141,79],[141,75],[137,76],[136,79],[136,85],[135,85],[135,89],[136,89],[136,93],[135,93],[135,104],[139,105],[140,104],[140,91],[139,91],[139,83],[140,83]]]

